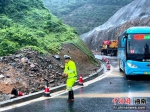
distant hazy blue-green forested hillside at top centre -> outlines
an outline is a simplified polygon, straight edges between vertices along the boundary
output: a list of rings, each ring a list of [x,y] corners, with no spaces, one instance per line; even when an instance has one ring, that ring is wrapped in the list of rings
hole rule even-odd
[[[118,9],[133,0],[44,0],[45,6],[79,34],[106,22]]]

